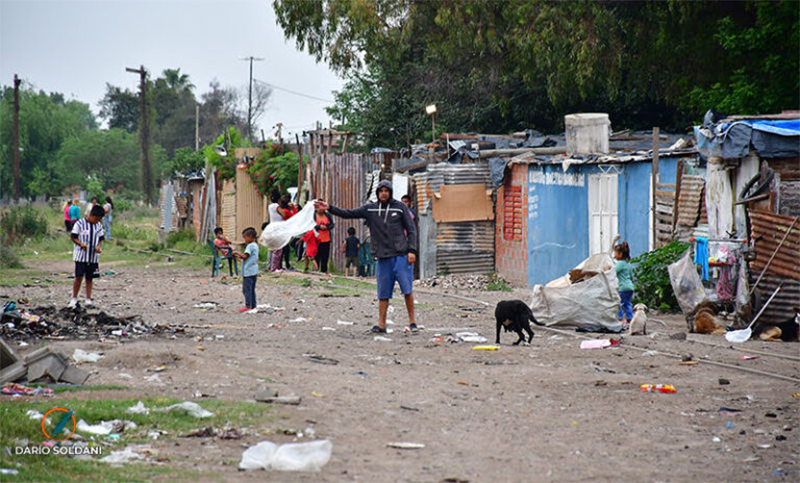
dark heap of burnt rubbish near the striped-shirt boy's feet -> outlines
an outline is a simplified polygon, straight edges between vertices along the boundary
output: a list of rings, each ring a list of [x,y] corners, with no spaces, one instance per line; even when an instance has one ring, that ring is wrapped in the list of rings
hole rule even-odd
[[[0,314],[0,337],[30,342],[41,339],[89,339],[97,337],[129,337],[160,332],[159,326],[148,326],[141,317],[113,317],[84,307],[22,308],[14,302],[3,306]]]

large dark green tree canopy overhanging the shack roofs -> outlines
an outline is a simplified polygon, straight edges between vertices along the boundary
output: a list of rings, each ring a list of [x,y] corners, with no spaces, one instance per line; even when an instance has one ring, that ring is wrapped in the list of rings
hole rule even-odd
[[[555,130],[570,112],[683,130],[705,110],[800,106],[796,2],[274,0],[288,39],[345,75],[331,115],[391,145]],[[392,131],[394,128],[394,131]]]

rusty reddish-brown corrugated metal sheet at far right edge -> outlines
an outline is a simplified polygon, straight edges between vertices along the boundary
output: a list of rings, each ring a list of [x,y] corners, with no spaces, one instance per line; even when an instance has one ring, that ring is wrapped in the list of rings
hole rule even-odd
[[[750,212],[750,237],[756,250],[756,259],[750,263],[751,284],[775,253],[793,220],[794,217],[765,211]],[[759,319],[763,323],[783,322],[794,314],[793,307],[800,307],[800,221],[795,223],[756,287],[760,300],[766,301],[781,282],[781,291]]]

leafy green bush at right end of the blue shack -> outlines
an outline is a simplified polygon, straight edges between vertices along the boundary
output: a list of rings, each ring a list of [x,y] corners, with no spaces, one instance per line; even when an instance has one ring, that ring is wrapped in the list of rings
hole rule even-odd
[[[633,268],[634,296],[637,302],[662,312],[680,310],[678,300],[669,282],[667,267],[674,263],[689,248],[688,243],[674,241],[665,247],[643,253],[631,260]]]

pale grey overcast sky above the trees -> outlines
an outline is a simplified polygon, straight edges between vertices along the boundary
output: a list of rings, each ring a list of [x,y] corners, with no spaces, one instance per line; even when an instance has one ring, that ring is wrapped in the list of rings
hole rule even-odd
[[[106,83],[138,90],[144,65],[151,78],[180,68],[196,86],[246,87],[253,77],[284,89],[333,99],[342,81],[324,63],[284,40],[269,0],[0,0],[0,84],[14,74],[46,92],[88,103],[95,114]],[[287,132],[327,126],[329,105],[273,89],[259,121],[267,137],[282,122]]]

